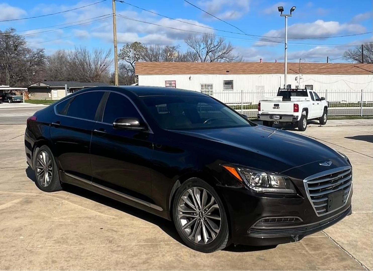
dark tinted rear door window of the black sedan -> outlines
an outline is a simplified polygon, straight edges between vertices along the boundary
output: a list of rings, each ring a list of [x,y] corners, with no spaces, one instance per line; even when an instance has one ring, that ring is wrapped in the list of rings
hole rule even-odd
[[[76,95],[67,110],[67,116],[94,120],[103,92],[87,92]]]

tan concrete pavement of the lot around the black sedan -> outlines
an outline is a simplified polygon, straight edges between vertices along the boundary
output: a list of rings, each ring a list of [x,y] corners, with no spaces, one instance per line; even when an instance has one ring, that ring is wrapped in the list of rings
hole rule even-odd
[[[351,216],[300,242],[213,254],[187,248],[171,222],[109,198],[72,186],[40,191],[25,163],[24,130],[0,125],[0,270],[373,269],[373,126],[301,133],[350,158]]]

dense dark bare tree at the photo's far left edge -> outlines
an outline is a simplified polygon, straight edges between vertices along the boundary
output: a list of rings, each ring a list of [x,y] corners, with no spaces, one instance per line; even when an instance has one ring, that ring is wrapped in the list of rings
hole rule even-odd
[[[32,50],[14,28],[0,31],[0,81],[5,85],[31,83],[44,67],[44,49]]]

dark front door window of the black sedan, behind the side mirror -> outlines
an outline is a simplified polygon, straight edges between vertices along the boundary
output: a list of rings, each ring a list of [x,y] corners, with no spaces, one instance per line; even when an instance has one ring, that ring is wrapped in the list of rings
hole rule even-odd
[[[112,124],[117,118],[134,117],[142,119],[132,102],[123,95],[111,92],[107,98],[103,122]]]

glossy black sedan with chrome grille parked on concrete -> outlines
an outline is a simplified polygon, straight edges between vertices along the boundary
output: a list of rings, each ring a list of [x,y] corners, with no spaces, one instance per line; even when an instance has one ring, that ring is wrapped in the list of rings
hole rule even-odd
[[[202,252],[295,242],[351,214],[344,154],[198,92],[81,90],[28,119],[25,147],[41,190],[69,183],[173,220]]]

